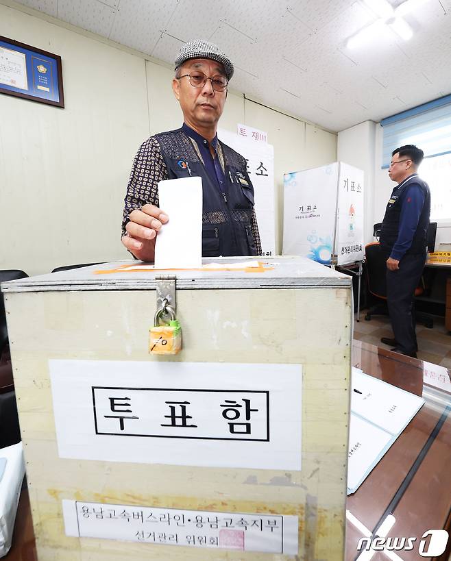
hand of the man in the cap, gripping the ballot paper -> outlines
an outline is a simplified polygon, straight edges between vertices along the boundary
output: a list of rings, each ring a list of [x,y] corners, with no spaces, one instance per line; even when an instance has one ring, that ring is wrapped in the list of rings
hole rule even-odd
[[[154,261],[155,238],[163,224],[169,220],[158,206],[144,205],[141,210],[130,212],[130,222],[125,226],[127,234],[122,243],[141,261]]]

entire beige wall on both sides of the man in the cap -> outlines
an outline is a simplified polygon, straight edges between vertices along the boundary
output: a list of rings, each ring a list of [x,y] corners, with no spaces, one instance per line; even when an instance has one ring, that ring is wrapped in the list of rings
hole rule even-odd
[[[0,35],[62,57],[65,101],[0,95],[0,269],[127,258],[120,223],[134,154],[182,123],[171,68],[68,27],[0,3]],[[274,146],[280,249],[283,173],[336,160],[337,135],[231,91],[220,126],[236,123],[267,131]]]

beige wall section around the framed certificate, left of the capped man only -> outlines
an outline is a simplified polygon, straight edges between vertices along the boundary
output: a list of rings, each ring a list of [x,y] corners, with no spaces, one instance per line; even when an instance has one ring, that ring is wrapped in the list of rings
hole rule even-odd
[[[149,132],[144,61],[4,5],[0,35],[61,55],[65,101],[0,95],[0,269],[123,257],[124,184]]]

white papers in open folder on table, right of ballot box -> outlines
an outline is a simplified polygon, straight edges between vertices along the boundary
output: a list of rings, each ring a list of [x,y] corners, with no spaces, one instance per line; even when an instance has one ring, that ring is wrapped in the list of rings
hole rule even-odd
[[[361,486],[423,404],[422,397],[352,369],[348,495]]]

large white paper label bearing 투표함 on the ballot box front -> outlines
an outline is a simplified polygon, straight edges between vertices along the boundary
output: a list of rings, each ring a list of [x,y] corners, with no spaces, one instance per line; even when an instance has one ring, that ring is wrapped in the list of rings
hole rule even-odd
[[[301,469],[299,364],[50,360],[49,369],[61,458]]]

